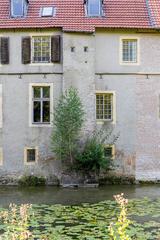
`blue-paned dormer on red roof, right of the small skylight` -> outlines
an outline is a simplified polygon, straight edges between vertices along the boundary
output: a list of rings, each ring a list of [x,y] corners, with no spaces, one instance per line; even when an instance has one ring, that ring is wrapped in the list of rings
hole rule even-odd
[[[88,16],[96,17],[102,15],[102,1],[101,0],[88,0],[87,1]]]

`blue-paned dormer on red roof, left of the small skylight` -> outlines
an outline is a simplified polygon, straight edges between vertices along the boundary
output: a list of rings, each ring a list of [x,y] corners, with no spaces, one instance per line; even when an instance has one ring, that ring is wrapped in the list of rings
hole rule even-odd
[[[11,16],[24,17],[27,12],[28,0],[11,0]]]

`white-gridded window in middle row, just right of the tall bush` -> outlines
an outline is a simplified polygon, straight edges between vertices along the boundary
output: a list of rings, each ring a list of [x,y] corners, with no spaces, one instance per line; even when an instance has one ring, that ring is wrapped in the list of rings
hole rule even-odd
[[[113,121],[113,93],[96,93],[96,119]]]

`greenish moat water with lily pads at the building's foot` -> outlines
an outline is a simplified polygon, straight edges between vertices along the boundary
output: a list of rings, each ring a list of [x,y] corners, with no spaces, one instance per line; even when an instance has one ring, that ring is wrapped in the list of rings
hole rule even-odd
[[[160,239],[159,185],[85,189],[0,187],[0,205],[32,203],[30,231],[35,240],[43,235],[48,240],[103,240],[109,239],[108,226],[119,215],[113,195],[121,192],[129,199],[131,239]],[[5,229],[3,224],[0,227]]]

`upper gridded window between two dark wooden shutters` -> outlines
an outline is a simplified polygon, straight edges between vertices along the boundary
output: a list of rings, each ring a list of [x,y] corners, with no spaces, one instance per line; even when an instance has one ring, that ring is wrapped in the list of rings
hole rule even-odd
[[[32,62],[51,62],[51,37],[37,36],[32,38]]]

